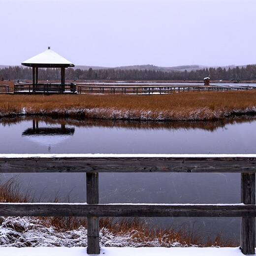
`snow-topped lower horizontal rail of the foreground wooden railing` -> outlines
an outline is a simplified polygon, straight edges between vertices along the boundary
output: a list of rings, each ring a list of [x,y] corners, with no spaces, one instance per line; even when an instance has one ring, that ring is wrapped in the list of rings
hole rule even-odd
[[[256,205],[0,203],[0,216],[256,217]]]

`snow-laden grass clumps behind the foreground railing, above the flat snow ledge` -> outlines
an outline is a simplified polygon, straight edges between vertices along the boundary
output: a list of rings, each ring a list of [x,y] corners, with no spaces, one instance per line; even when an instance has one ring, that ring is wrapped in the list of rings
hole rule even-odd
[[[0,217],[0,247],[86,247],[87,229],[60,231],[55,227],[46,227],[38,218]],[[160,247],[165,241],[166,247],[188,247],[178,241],[167,241],[164,235],[159,240],[147,241],[136,236],[137,230],[118,235],[107,228],[99,232],[101,247]],[[195,247],[195,245],[190,245]]]

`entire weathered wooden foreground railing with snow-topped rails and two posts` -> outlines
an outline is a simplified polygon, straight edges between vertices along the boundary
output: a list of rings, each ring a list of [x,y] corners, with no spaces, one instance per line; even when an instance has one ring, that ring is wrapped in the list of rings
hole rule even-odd
[[[240,248],[255,254],[256,155],[0,154],[0,172],[86,172],[87,203],[0,203],[0,216],[87,217],[88,254],[99,254],[98,217],[241,217]],[[99,204],[100,172],[241,173],[241,202]]]

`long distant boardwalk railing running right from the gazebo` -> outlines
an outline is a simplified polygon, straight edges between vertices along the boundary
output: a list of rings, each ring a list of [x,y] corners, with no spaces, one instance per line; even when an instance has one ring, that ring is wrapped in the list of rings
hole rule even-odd
[[[99,93],[99,94],[173,94],[180,92],[204,92],[204,91],[240,91],[254,90],[256,87],[247,86],[188,86],[188,85],[152,85],[152,86],[108,86],[108,85],[78,85],[78,93]]]

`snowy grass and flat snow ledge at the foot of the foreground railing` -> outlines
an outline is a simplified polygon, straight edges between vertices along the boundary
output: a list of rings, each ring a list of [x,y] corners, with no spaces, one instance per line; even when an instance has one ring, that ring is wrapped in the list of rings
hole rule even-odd
[[[61,232],[45,227],[38,218],[0,217],[0,255],[3,256],[86,256],[87,230],[79,227]],[[119,236],[100,230],[100,255],[104,256],[242,256],[239,248],[199,248],[172,242],[161,247],[164,235],[153,241],[136,238],[136,230]],[[134,238],[135,237],[135,238]],[[166,248],[169,247],[169,248]],[[183,248],[181,248],[183,247]]]

